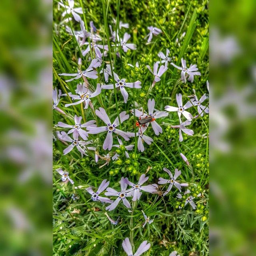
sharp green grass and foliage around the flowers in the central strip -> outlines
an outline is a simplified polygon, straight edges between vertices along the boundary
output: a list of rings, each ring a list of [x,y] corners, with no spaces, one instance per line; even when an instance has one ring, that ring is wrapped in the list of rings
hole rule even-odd
[[[58,74],[76,72],[78,58],[82,58],[84,70],[90,63],[88,58],[91,54],[82,57],[81,49],[78,48],[74,37],[66,32],[64,24],[60,25],[63,18],[57,5],[57,2],[54,2],[53,82],[54,87],[61,89],[63,93],[74,93],[77,82],[82,80],[66,83]],[[112,60],[114,72],[126,78],[127,82],[136,80],[142,82],[141,89],[128,89],[127,104],[124,104],[122,95],[116,90],[114,92],[102,90],[102,93],[92,100],[94,110],[104,107],[111,120],[116,118],[117,113],[126,110],[130,118],[122,123],[122,130],[130,132],[136,130],[137,118],[134,118],[130,112],[135,102],[147,110],[148,99],[154,98],[155,108],[164,110],[166,105],[176,105],[176,93],[182,93],[184,102],[193,94],[193,88],[199,98],[202,94],[208,93],[206,89],[208,79],[207,1],[178,0],[168,1],[166,5],[164,0],[148,2],[80,0],[75,6],[82,6],[84,15],[81,17],[86,26],[88,27],[89,21],[93,20],[98,33],[104,38],[102,42],[108,44],[110,51],[108,56],[104,57],[104,62],[109,63]],[[130,50],[127,53],[117,48],[121,58],[116,57],[113,42],[107,40],[108,25],[111,24],[113,29],[116,29],[112,18],[129,23],[128,29],[120,30],[120,37],[123,37],[124,32],[128,32],[131,34],[129,42],[137,45],[137,50]],[[79,24],[74,20],[70,24],[73,30],[80,29]],[[69,23],[67,25],[70,26]],[[148,33],[147,26],[156,26],[163,31],[162,34],[153,36],[150,44],[146,44],[144,39]],[[186,35],[180,39],[183,32],[186,32]],[[184,58],[188,64],[197,64],[202,76],[195,77],[193,83],[182,84],[180,71],[169,65],[161,81],[149,92],[154,78],[146,65],[152,67],[153,63],[159,60],[158,52],[165,53],[166,48],[170,50],[170,57],[174,57],[174,63],[180,66],[180,60]],[[139,63],[138,67],[135,66],[136,62]],[[109,83],[112,82],[111,79],[110,77]],[[96,88],[97,83],[104,84],[103,75],[99,74],[97,80],[91,79],[89,82],[93,88]],[[96,119],[90,108],[85,110],[80,105],[65,108],[64,105],[71,101],[70,97],[61,98],[59,107],[67,113],[67,116],[54,111],[54,132],[63,130],[55,126],[59,121],[72,124],[72,117],[75,114],[82,116],[84,121]],[[191,108],[191,112],[195,116],[196,107]],[[163,128],[162,134],[156,136],[151,127],[146,130],[146,135],[153,138],[154,142],[151,145],[145,144],[144,152],[139,154],[136,147],[137,138],[131,138],[129,142],[123,141],[124,145],[135,145],[129,152],[129,159],[125,156],[123,146],[112,148],[111,152],[102,149],[105,134],[90,136],[89,139],[94,139],[94,146],[101,156],[108,153],[113,156],[115,152],[120,155],[118,160],[111,160],[102,168],[99,167],[105,161],[100,159],[97,164],[94,160],[94,152],[81,158],[78,151],[72,150],[64,156],[62,152],[67,145],[54,140],[53,255],[123,256],[125,253],[121,244],[126,237],[132,238],[136,249],[143,240],[148,240],[151,247],[144,253],[148,256],[168,256],[173,250],[177,250],[181,256],[208,255],[208,115],[192,121],[190,128],[194,130],[194,136],[184,134],[184,141],[181,143],[178,129],[170,127],[179,123],[178,116],[174,112],[169,113],[166,118],[158,119],[160,120],[158,123]],[[99,118],[96,120],[98,126],[103,124]],[[118,144],[115,136],[114,144]],[[192,168],[183,162],[180,152],[188,158]],[[75,182],[74,186],[60,181],[60,176],[55,171],[59,167],[70,173],[70,178]],[[148,184],[157,183],[159,177],[168,178],[163,167],[170,169],[173,173],[175,168],[181,170],[180,180],[189,184],[190,193],[181,199],[176,198],[178,193],[176,188],[172,188],[165,197],[161,194],[143,193],[139,202],[132,205],[132,212],[128,212],[122,204],[118,205],[114,211],[108,212],[114,220],[120,216],[120,222],[116,226],[106,218],[104,214],[106,206],[100,202],[93,202],[85,190],[89,185],[98,187],[105,178],[110,180],[110,187],[119,190],[118,181],[122,176],[136,182],[143,173],[149,177]],[[76,189],[75,186],[81,187]],[[183,188],[182,194],[184,191]],[[198,197],[198,194],[201,195]],[[196,210],[192,210],[189,204],[184,206],[186,198],[190,195],[195,197]],[[142,228],[144,218],[141,210],[150,219],[154,219],[152,224],[147,224],[144,228]]]

